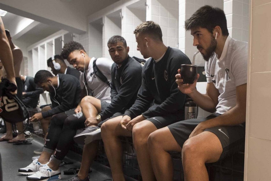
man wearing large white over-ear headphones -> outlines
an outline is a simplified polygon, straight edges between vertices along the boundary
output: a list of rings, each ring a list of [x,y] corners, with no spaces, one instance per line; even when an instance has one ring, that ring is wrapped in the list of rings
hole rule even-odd
[[[50,57],[47,60],[47,66],[51,68],[54,75],[69,74],[75,76],[79,80],[80,72],[75,68],[67,66],[64,59],[60,55]]]

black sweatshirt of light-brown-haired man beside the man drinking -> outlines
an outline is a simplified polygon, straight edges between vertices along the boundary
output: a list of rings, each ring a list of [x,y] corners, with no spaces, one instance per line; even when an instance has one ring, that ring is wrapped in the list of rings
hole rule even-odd
[[[133,119],[141,114],[150,118],[183,113],[186,94],[179,91],[175,82],[175,75],[181,64],[191,64],[191,62],[182,51],[170,47],[157,63],[153,58],[147,60],[143,67],[142,85],[137,100],[124,115]],[[150,107],[152,102],[153,105]]]

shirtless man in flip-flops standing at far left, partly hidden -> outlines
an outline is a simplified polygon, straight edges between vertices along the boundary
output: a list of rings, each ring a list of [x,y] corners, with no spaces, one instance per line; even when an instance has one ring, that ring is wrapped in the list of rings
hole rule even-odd
[[[10,44],[10,48],[12,51],[15,80],[16,80],[16,84],[17,84],[17,97],[20,100],[22,100],[22,89],[23,89],[22,86],[23,85],[22,85],[22,81],[20,79],[20,69],[21,69],[21,63],[23,60],[22,51],[18,46],[16,46],[12,42],[12,37],[10,36],[10,31],[5,29],[5,33],[7,35],[7,40]],[[4,69],[5,69],[5,66],[4,66]],[[5,70],[3,71],[3,78],[7,78]],[[3,137],[0,138],[0,141],[8,141],[9,143],[16,143],[16,142],[21,142],[21,141],[25,140],[24,133],[18,134],[15,138],[13,138],[12,124],[8,123],[8,122],[6,122],[5,124],[6,124],[7,133],[6,133],[6,135],[4,135]],[[23,128],[22,122],[17,123],[17,129],[19,132],[23,131],[24,128]]]

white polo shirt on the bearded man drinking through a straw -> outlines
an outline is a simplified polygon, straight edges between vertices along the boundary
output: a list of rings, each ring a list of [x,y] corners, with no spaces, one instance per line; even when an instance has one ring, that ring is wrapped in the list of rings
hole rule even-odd
[[[221,57],[213,55],[205,62],[207,83],[218,89],[216,113],[223,114],[236,106],[236,87],[247,83],[248,43],[228,36]]]

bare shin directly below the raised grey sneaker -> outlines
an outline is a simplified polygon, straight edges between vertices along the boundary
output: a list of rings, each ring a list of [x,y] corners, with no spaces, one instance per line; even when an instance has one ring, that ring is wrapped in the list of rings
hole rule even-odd
[[[88,176],[90,165],[93,163],[99,148],[99,140],[95,140],[87,145],[84,145],[82,163],[78,172],[78,177],[83,180]]]

